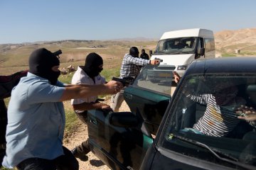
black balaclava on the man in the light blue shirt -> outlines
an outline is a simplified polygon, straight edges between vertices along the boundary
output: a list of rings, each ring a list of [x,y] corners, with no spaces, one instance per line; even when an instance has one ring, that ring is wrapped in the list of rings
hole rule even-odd
[[[60,60],[53,52],[46,50],[46,48],[34,50],[29,57],[28,64],[28,72],[48,79],[52,85],[57,83],[60,71],[54,72],[52,67],[60,65]]]

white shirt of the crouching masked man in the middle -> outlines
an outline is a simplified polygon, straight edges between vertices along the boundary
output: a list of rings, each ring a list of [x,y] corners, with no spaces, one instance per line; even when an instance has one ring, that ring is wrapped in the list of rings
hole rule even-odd
[[[100,74],[95,77],[95,82],[80,68],[73,75],[71,84],[88,84],[88,85],[97,85],[97,84],[105,84],[105,77],[101,77]],[[97,96],[87,97],[87,98],[78,98],[71,99],[71,105],[80,104],[80,103],[91,103],[97,100]],[[81,112],[81,111],[78,111]]]

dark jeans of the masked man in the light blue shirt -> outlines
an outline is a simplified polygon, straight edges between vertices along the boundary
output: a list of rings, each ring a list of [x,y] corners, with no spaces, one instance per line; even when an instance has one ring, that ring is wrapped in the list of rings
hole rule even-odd
[[[21,170],[78,170],[79,164],[74,155],[63,147],[64,155],[55,159],[28,158],[17,165]]]

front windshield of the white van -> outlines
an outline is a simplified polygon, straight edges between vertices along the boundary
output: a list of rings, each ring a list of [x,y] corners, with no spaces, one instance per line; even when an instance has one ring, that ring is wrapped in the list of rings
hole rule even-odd
[[[194,54],[196,52],[196,37],[170,38],[159,40],[154,54],[158,55],[177,55]]]

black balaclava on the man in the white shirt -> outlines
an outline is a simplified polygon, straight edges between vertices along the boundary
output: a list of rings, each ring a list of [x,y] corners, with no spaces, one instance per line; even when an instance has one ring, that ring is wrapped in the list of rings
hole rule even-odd
[[[94,79],[94,77],[97,77],[97,75],[99,75],[102,71],[102,69],[99,68],[99,66],[102,64],[102,57],[97,55],[95,52],[92,52],[87,55],[85,59],[85,67],[83,67],[83,70],[90,78]]]

